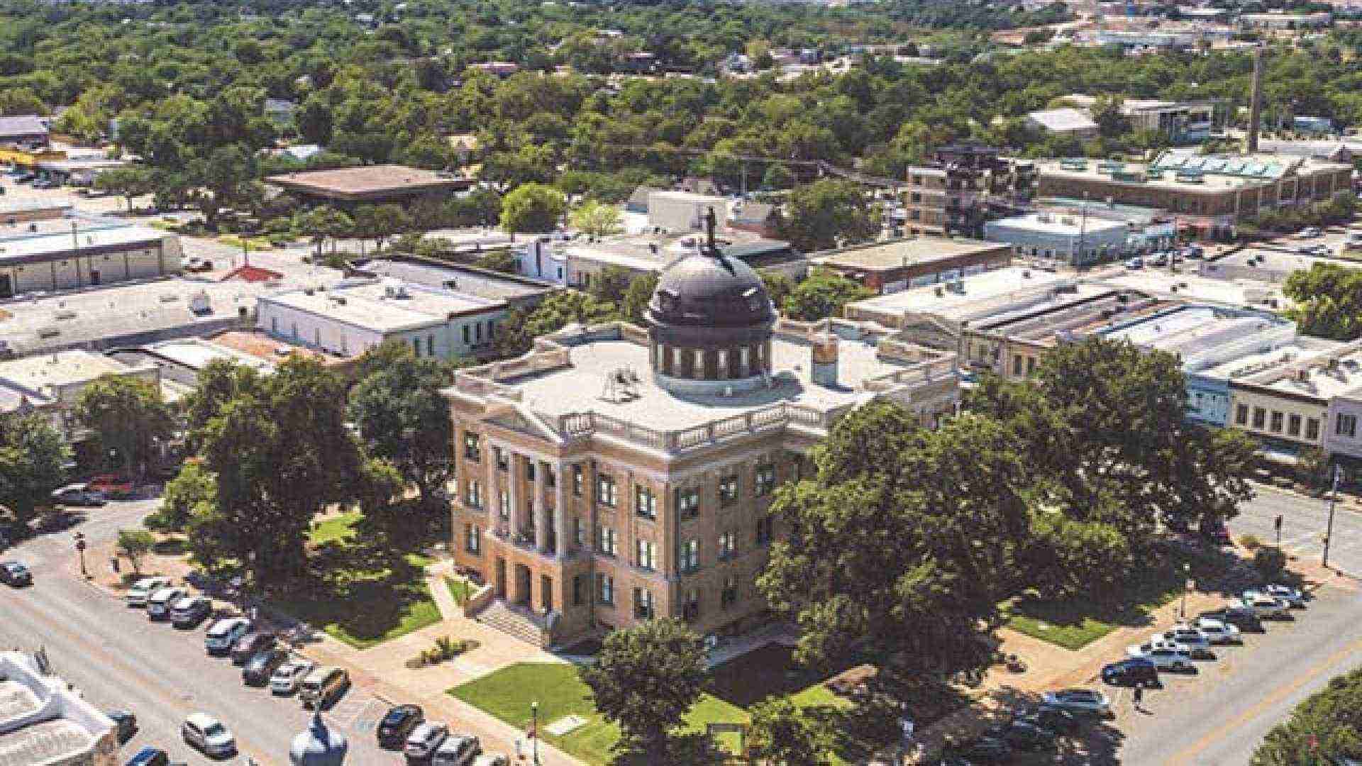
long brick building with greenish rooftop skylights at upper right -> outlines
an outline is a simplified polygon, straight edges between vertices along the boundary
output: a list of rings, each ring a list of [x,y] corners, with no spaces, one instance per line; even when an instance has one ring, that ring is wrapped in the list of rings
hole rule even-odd
[[[1352,188],[1352,166],[1302,157],[1162,154],[1148,165],[1050,159],[1036,194],[1158,207],[1185,230],[1230,236],[1258,210],[1325,202]]]

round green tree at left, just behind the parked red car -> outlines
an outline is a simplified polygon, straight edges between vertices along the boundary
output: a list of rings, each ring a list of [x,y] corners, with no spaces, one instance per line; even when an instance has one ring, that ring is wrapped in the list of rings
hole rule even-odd
[[[101,462],[140,476],[166,442],[176,420],[155,384],[131,375],[106,375],[76,399],[76,418],[90,429]]]

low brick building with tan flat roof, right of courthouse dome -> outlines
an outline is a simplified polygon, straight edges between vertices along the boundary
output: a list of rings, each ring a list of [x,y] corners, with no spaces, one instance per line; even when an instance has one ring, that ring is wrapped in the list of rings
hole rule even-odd
[[[814,252],[809,262],[885,294],[1002,269],[1012,252],[996,243],[925,236]]]

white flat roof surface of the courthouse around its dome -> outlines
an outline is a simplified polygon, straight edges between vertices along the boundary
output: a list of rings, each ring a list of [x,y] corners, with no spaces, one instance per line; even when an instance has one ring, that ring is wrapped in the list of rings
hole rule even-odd
[[[631,341],[592,341],[571,349],[571,365],[504,379],[501,383],[522,395],[522,403],[537,413],[558,417],[595,412],[631,420],[659,431],[692,428],[775,403],[798,403],[820,410],[857,405],[873,398],[861,388],[870,378],[906,369],[910,365],[881,360],[869,342],[840,342],[838,388],[817,386],[809,379],[810,346],[776,334],[771,342],[772,388],[740,391],[733,397],[677,395],[652,382],[648,348]],[[637,398],[612,401],[603,397],[607,376],[621,368],[635,371],[640,383]]]

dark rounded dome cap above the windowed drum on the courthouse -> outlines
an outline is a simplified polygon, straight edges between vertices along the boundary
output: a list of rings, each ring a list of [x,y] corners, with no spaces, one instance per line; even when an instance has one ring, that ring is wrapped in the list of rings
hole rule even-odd
[[[725,255],[696,254],[673,263],[658,278],[648,322],[752,327],[774,323],[775,309],[765,284],[750,266]]]

